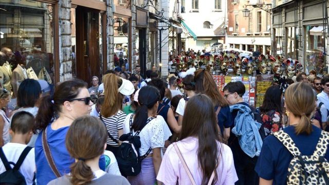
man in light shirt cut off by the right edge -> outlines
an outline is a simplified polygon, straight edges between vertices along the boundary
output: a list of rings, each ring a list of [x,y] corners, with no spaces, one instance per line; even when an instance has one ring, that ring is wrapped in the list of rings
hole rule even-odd
[[[318,107],[321,107],[324,105],[327,111],[321,112],[322,116],[322,126],[323,130],[328,131],[329,130],[329,121],[328,121],[328,115],[329,115],[329,76],[326,75],[321,79],[321,86],[323,88],[322,92],[318,94]],[[320,105],[321,104],[321,105]],[[322,105],[323,104],[323,105]]]

